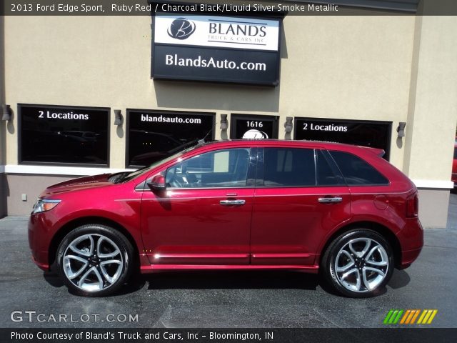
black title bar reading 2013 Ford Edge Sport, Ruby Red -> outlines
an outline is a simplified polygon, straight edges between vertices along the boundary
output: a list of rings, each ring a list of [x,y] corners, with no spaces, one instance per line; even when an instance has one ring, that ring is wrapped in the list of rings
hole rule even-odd
[[[159,0],[160,1],[160,0]],[[280,1],[154,1],[154,0],[4,0],[4,16],[150,16],[156,11],[224,16],[457,16],[455,0],[280,0]],[[177,6],[183,6],[182,8]]]

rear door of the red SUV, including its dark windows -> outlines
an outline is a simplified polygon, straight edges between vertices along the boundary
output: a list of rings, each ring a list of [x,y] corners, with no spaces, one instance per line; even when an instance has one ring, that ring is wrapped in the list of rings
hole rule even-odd
[[[323,237],[351,215],[351,194],[326,150],[258,151],[251,264],[310,265]]]

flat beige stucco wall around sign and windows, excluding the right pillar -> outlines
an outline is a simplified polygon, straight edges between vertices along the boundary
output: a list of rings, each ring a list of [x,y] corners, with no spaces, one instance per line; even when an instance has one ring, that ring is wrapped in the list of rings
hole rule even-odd
[[[152,81],[149,16],[5,20],[11,104],[204,110],[218,121],[221,113],[280,114],[280,138],[286,116],[406,121],[413,16],[286,16],[276,88]],[[17,164],[16,129],[15,117],[7,164]],[[111,167],[123,168],[124,155],[125,126],[111,125]],[[396,144],[391,161],[401,167]]]

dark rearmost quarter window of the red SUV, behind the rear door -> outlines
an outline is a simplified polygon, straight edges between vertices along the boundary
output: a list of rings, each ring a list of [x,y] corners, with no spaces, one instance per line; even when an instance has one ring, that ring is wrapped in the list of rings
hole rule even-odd
[[[343,151],[328,151],[348,185],[388,184],[388,179],[360,157]]]

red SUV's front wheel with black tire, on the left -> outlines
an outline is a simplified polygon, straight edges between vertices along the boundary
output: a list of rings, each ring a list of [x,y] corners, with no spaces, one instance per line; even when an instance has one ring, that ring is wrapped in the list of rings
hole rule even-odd
[[[56,256],[62,281],[84,297],[113,294],[129,279],[134,248],[123,234],[101,224],[87,224],[67,234]]]

